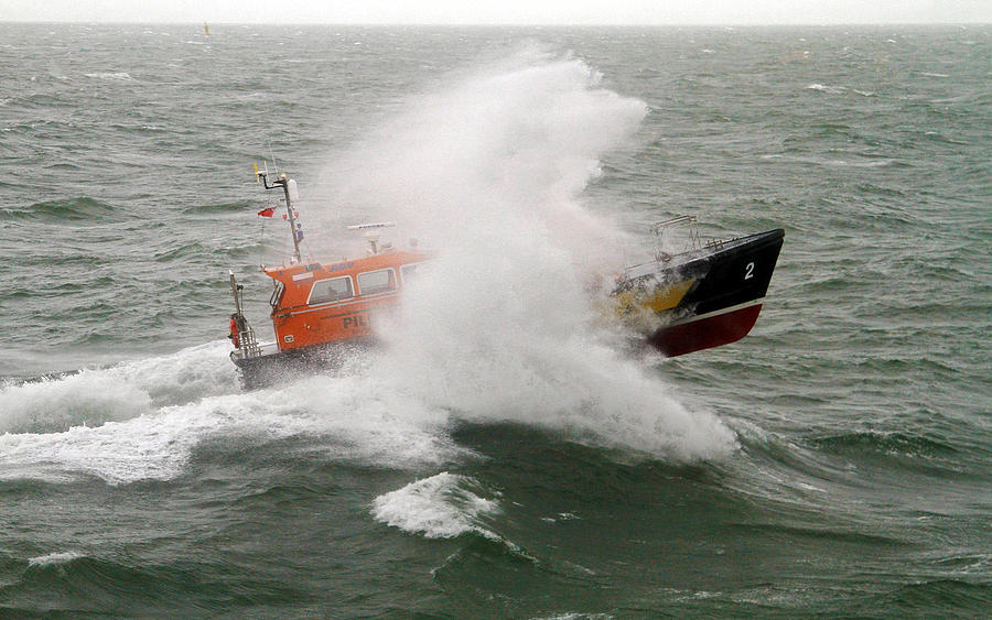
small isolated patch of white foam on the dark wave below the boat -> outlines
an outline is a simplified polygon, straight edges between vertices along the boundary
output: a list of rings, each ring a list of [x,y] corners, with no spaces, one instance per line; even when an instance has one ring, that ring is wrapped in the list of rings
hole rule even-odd
[[[467,532],[498,539],[481,523],[499,513],[499,503],[476,492],[482,490],[475,479],[443,471],[379,496],[371,513],[387,525],[428,539],[452,539]]]

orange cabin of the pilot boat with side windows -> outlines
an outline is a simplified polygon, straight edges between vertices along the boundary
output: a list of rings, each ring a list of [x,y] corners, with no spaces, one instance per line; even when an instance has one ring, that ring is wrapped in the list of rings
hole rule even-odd
[[[390,251],[331,264],[267,268],[278,282],[271,316],[279,350],[370,336],[375,315],[397,304],[403,281],[429,258]]]

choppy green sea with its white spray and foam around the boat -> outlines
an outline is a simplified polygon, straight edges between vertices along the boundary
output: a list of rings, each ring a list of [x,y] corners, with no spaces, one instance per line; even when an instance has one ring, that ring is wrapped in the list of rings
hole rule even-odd
[[[0,24],[0,616],[992,613],[992,29]],[[288,255],[438,252],[240,389]],[[745,339],[583,273],[781,227]]]

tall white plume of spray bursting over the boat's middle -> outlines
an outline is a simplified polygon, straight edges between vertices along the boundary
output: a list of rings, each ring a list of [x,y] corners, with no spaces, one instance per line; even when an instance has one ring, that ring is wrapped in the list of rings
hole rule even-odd
[[[398,320],[378,326],[389,349],[373,372],[473,422],[684,460],[730,454],[726,426],[687,410],[592,327],[583,281],[622,267],[623,235],[580,195],[602,154],[632,140],[645,104],[603,88],[579,59],[531,50],[408,108],[327,173],[346,204],[436,250]]]

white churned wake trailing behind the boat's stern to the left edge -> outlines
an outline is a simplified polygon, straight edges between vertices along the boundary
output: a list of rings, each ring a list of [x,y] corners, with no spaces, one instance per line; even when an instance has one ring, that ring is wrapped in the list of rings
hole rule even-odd
[[[169,480],[205,442],[301,438],[309,455],[377,467],[439,466],[446,412],[374,376],[242,392],[225,342],[0,390],[0,479]],[[320,456],[320,455],[317,455]]]

